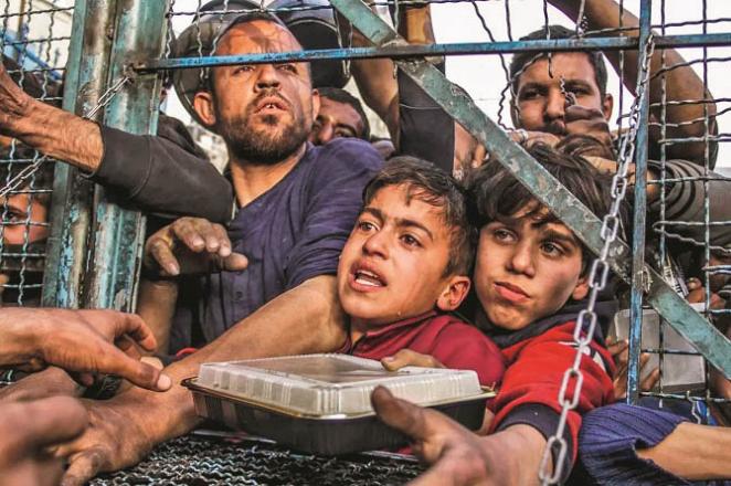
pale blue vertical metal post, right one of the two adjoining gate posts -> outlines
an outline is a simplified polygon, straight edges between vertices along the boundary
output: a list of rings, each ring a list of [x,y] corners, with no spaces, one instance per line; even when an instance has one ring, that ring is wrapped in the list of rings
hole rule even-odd
[[[107,86],[126,75],[126,66],[162,53],[168,1],[134,0],[117,4],[115,39]],[[160,80],[155,74],[126,83],[105,112],[106,125],[133,134],[153,134]],[[107,191],[96,189],[94,260],[83,302],[91,308],[133,310],[145,237],[145,218],[117,205]]]

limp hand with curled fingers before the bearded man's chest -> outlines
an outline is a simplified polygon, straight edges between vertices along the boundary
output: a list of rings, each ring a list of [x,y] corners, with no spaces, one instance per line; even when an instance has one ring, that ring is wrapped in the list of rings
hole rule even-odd
[[[144,263],[163,277],[242,271],[248,265],[244,255],[232,252],[225,228],[201,218],[180,218],[150,236]]]

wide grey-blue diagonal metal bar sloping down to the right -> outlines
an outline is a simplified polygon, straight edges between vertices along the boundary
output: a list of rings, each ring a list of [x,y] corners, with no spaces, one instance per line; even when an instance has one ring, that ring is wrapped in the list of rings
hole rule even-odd
[[[375,45],[399,39],[385,22],[379,19],[360,0],[331,0],[332,6]],[[586,246],[597,253],[603,241],[600,235],[602,223],[555,178],[530,157],[519,145],[467,96],[449,83],[444,75],[424,61],[396,61],[399,67],[414,80],[452,117],[473,134],[536,198],[551,208],[566,226]],[[621,241],[612,245],[607,262],[612,270],[626,282],[631,281],[629,247]],[[651,268],[647,302],[667,319],[713,366],[731,378],[731,342],[708,320],[696,313],[670,288],[661,276]]]

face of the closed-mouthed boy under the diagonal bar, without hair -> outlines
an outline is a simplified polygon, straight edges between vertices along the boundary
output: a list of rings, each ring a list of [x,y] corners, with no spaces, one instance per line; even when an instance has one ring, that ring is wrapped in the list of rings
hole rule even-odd
[[[544,208],[530,214],[536,207],[492,221],[479,234],[475,288],[489,320],[504,329],[522,329],[589,289],[580,277],[581,244],[562,223],[547,222]]]

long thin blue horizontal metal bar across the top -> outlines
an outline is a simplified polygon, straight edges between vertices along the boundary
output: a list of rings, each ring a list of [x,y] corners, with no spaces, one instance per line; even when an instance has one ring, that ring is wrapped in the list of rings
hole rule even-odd
[[[708,42],[706,42],[708,41]],[[656,39],[656,45],[663,47],[689,47],[702,45],[731,45],[731,33],[708,35],[669,35]],[[346,60],[393,57],[409,59],[438,55],[505,54],[516,52],[544,51],[610,51],[637,49],[638,38],[583,38],[552,39],[518,42],[466,42],[451,44],[411,45],[404,43],[385,44],[372,47],[317,49],[298,52],[271,52],[261,54],[153,59],[136,63],[133,67],[139,73],[159,70],[182,70],[189,67],[226,66],[234,64],[268,64],[292,61]]]

